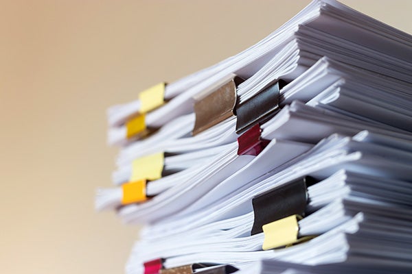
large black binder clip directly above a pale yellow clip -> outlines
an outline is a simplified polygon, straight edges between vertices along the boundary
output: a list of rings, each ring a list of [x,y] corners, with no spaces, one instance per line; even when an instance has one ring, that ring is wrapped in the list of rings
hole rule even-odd
[[[307,188],[314,182],[314,178],[305,176],[253,197],[255,219],[251,235],[262,233],[262,226],[267,223],[294,214],[305,216],[308,203]]]

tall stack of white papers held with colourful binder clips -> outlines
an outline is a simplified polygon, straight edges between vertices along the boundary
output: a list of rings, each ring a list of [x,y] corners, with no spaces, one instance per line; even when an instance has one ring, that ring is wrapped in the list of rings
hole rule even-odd
[[[108,110],[126,273],[412,273],[412,36],[314,0]]]

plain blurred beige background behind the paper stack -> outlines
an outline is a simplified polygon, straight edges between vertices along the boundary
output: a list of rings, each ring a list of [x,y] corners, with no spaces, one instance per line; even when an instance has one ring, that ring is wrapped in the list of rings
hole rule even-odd
[[[412,33],[412,1],[344,3]],[[308,1],[2,1],[0,272],[122,273],[137,235],[93,210],[106,108],[257,42]]]

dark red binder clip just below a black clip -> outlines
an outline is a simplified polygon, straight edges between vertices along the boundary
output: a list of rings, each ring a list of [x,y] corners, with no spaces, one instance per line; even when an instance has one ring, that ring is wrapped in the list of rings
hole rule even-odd
[[[270,140],[260,138],[262,129],[256,124],[238,137],[238,155],[259,155]]]

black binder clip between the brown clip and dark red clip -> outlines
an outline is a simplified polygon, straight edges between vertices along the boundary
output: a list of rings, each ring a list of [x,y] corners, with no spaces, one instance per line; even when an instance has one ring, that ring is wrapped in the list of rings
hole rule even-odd
[[[264,123],[271,119],[279,108],[279,91],[286,86],[286,82],[279,79],[275,84],[268,86],[246,102],[236,106],[236,133],[242,134],[251,125]]]

